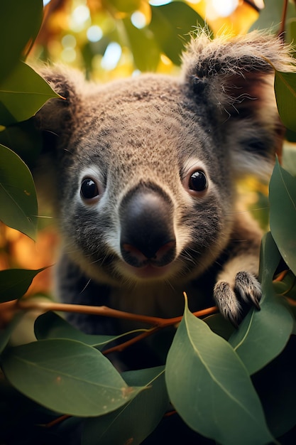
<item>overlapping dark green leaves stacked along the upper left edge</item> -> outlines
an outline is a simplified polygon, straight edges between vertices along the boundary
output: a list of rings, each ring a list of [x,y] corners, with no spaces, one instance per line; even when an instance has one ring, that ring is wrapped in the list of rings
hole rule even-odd
[[[37,198],[31,171],[23,159],[33,161],[40,149],[40,135],[33,129],[30,118],[46,100],[57,95],[23,61],[42,21],[42,0],[21,4],[13,0],[1,9],[1,41],[11,42],[11,47],[1,46],[0,220],[35,239]]]

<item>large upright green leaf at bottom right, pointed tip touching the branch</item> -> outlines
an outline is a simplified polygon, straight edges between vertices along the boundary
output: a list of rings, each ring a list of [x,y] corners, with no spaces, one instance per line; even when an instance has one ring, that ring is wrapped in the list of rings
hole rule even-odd
[[[273,441],[243,363],[187,304],[168,353],[165,379],[175,409],[200,434],[227,445]]]

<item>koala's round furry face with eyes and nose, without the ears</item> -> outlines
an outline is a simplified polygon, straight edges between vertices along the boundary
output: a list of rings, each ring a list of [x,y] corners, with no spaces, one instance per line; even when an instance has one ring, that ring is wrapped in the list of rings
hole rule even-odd
[[[83,132],[73,129],[57,173],[67,251],[109,284],[196,276],[231,230],[229,154],[212,151],[222,131],[177,82],[157,82],[155,91],[155,77],[143,76],[86,97]]]

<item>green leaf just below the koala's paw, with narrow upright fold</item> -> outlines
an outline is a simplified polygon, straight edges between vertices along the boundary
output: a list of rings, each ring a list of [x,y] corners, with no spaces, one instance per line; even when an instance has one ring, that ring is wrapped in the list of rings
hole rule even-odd
[[[261,311],[252,309],[241,326],[229,338],[248,372],[253,374],[273,360],[285,348],[293,328],[293,318],[282,297],[273,289],[273,274],[280,254],[268,233],[261,249]]]

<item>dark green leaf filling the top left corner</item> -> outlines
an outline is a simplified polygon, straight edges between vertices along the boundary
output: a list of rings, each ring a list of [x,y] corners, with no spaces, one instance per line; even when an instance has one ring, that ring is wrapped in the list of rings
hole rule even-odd
[[[0,82],[21,58],[29,41],[34,41],[43,18],[42,0],[1,2],[0,14]]]

